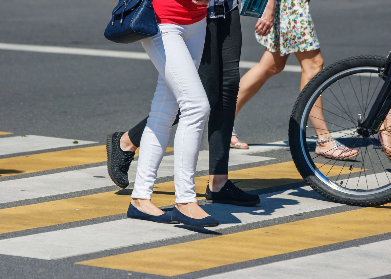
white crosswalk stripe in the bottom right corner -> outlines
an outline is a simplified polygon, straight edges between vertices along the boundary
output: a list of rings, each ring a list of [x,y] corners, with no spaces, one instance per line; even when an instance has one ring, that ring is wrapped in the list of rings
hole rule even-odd
[[[212,275],[208,279],[367,279],[391,274],[391,240]]]

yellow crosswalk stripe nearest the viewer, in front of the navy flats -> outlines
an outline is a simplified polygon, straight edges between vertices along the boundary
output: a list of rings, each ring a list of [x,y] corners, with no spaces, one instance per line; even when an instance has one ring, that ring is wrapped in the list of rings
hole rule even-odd
[[[77,264],[176,276],[391,232],[391,211],[364,208]]]

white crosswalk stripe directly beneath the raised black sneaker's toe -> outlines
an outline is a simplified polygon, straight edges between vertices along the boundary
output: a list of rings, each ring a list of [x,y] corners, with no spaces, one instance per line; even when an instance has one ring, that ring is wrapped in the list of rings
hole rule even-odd
[[[235,155],[231,156],[229,164],[239,165],[270,159],[273,158]],[[130,182],[135,181],[136,169],[137,161],[133,162],[129,169]],[[209,169],[208,151],[201,151],[196,170],[203,171],[207,169]],[[174,156],[164,156],[158,171],[158,177],[172,175],[174,175]],[[110,185],[114,185],[114,183],[107,174],[106,166],[7,180],[0,182],[0,203],[66,194]]]

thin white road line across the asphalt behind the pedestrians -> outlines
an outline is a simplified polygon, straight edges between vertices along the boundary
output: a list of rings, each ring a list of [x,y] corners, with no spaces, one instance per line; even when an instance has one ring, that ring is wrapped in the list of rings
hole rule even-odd
[[[88,55],[99,57],[115,57],[127,59],[149,60],[149,57],[144,52],[126,52],[120,50],[99,50],[93,48],[71,48],[64,46],[39,46],[33,44],[10,44],[0,43],[0,50],[14,50],[23,52],[41,52],[41,53],[57,53],[57,54],[71,54],[71,55]],[[250,69],[258,62],[240,61],[240,68]],[[286,65],[283,71],[300,73],[300,66]]]

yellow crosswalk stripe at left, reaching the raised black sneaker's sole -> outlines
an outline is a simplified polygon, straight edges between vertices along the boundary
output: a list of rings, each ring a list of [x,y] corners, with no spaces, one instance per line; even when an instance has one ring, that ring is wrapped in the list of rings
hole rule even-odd
[[[167,152],[172,150],[172,147],[167,148]],[[138,150],[135,156],[138,156]],[[0,176],[61,169],[106,160],[106,146],[104,145],[11,157],[0,159]]]

